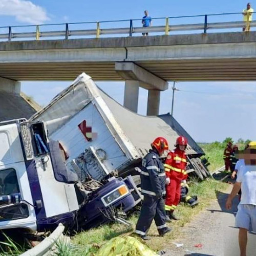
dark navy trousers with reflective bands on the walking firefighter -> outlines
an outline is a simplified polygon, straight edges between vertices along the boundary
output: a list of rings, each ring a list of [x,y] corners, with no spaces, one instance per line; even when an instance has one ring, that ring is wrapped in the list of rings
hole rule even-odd
[[[159,233],[167,228],[163,199],[144,195],[135,232],[140,234],[140,236],[145,236],[150,229],[153,219],[155,220]]]

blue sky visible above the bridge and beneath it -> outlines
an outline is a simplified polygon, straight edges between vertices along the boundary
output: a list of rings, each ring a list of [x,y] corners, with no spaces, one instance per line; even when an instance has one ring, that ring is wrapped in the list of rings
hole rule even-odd
[[[91,22],[101,20],[136,19],[148,10],[152,17],[186,16],[212,13],[241,12],[245,1],[52,1],[0,0],[1,26],[53,23]],[[251,3],[253,8],[253,2]],[[240,14],[209,17],[208,22],[241,20]],[[202,18],[176,19],[177,24],[202,23]],[[159,20],[153,21],[159,24]],[[174,21],[175,23],[175,21]],[[113,27],[120,26],[113,23]],[[15,31],[19,31],[18,28]],[[239,31],[239,30],[233,30]],[[0,28],[0,33],[5,33]],[[184,32],[183,32],[184,33]],[[86,72],[86,70],[81,70]],[[75,77],[74,77],[75,79]],[[41,104],[65,89],[71,82],[22,82],[22,91]],[[106,93],[123,103],[124,82],[97,82]],[[172,85],[161,92],[160,114],[171,111]],[[175,92],[174,117],[199,142],[256,140],[255,82],[178,82]],[[138,113],[146,114],[147,91],[140,89]]]

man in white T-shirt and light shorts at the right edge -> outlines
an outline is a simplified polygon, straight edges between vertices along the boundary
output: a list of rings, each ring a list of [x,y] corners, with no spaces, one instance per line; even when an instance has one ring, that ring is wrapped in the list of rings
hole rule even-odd
[[[256,141],[250,142],[248,149],[256,149]],[[245,154],[246,156],[249,155]],[[250,159],[252,159],[252,156],[255,155],[250,155]],[[241,159],[237,182],[226,201],[226,208],[231,209],[232,199],[241,188],[242,197],[236,216],[236,226],[239,228],[240,256],[246,256],[248,230],[256,232],[256,165],[254,163],[253,165],[247,165],[246,162]]]

